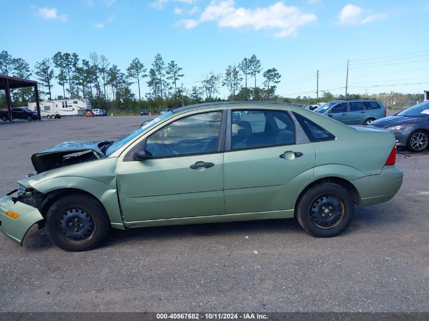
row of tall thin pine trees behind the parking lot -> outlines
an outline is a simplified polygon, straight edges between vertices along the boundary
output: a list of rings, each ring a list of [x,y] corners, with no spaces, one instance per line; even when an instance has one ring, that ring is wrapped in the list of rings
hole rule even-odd
[[[224,73],[210,72],[202,76],[201,81],[197,82],[199,85],[186,88],[180,82],[184,77],[183,68],[174,60],[165,62],[160,54],[154,57],[150,66],[134,58],[122,71],[116,64],[111,64],[106,56],[96,52],[90,53],[88,59],[81,59],[77,53],[57,52],[36,62],[32,69],[24,59],[14,58],[7,51],[0,53],[0,74],[36,78],[42,98],[88,98],[94,107],[112,109],[170,108],[182,102],[191,104],[223,100],[218,97],[221,87],[228,90],[228,100],[278,98],[275,92],[281,75],[274,67],[265,70],[261,87],[258,87],[257,79],[262,70],[260,60],[253,54],[237,65],[228,65]],[[254,80],[253,86],[250,85],[251,79]],[[143,82],[149,89],[146,93],[141,92]],[[131,91],[132,84],[137,84],[137,94]],[[57,85],[62,95],[54,97],[52,88]],[[32,88],[11,90],[11,98],[14,106],[35,100]],[[6,104],[2,93],[0,104]]]

